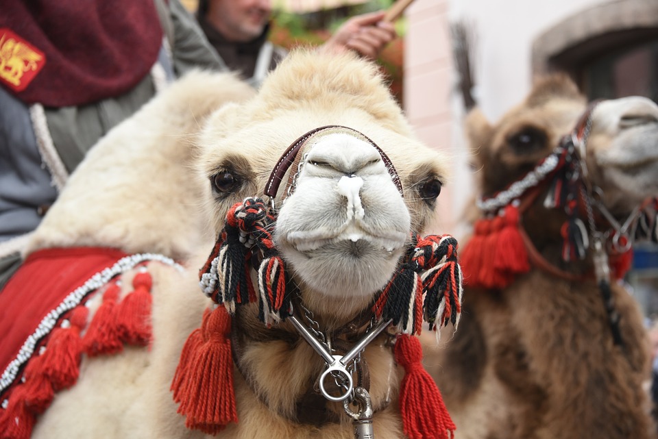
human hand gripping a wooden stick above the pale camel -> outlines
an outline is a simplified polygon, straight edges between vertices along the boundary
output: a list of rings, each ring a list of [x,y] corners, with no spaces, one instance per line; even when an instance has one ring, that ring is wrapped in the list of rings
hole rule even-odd
[[[370,12],[350,18],[322,45],[321,49],[333,52],[354,50],[366,58],[375,60],[380,51],[397,36],[393,23],[382,21],[385,13],[385,11]]]

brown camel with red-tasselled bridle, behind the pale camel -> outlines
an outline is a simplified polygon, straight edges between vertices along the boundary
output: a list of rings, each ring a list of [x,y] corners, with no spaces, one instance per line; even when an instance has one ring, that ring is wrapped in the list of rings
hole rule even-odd
[[[495,125],[472,110],[466,132],[479,197],[464,315],[425,359],[456,438],[655,437],[642,315],[616,279],[631,235],[655,239],[657,106],[589,114],[555,75]]]

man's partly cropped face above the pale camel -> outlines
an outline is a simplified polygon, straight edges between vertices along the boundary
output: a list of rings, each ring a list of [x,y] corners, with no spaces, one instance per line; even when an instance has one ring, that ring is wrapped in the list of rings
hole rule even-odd
[[[199,14],[227,40],[247,42],[263,33],[272,12],[271,0],[202,0]]]

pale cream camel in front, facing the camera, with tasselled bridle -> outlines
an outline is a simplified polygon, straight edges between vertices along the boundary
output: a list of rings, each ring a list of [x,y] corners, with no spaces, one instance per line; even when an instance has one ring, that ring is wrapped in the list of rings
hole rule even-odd
[[[44,349],[23,345],[0,422],[49,439],[448,437],[410,336],[459,317],[456,242],[418,235],[446,168],[350,54],[293,53],[256,96],[180,80],[90,151],[36,230],[28,262],[137,256],[57,308]],[[62,334],[82,340],[73,386],[47,360]]]

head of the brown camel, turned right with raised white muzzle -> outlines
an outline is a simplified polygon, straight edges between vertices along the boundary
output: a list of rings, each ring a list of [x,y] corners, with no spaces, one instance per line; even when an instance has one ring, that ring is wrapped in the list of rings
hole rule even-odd
[[[504,227],[507,219],[494,220],[509,218],[506,206],[513,205],[529,240],[552,264],[584,260],[599,234],[608,246],[620,237],[629,242],[647,199],[658,195],[658,107],[643,97],[588,106],[568,77],[552,75],[496,124],[472,110],[466,132],[478,205],[491,219],[476,235]],[[650,211],[643,221],[655,229],[655,207]]]

